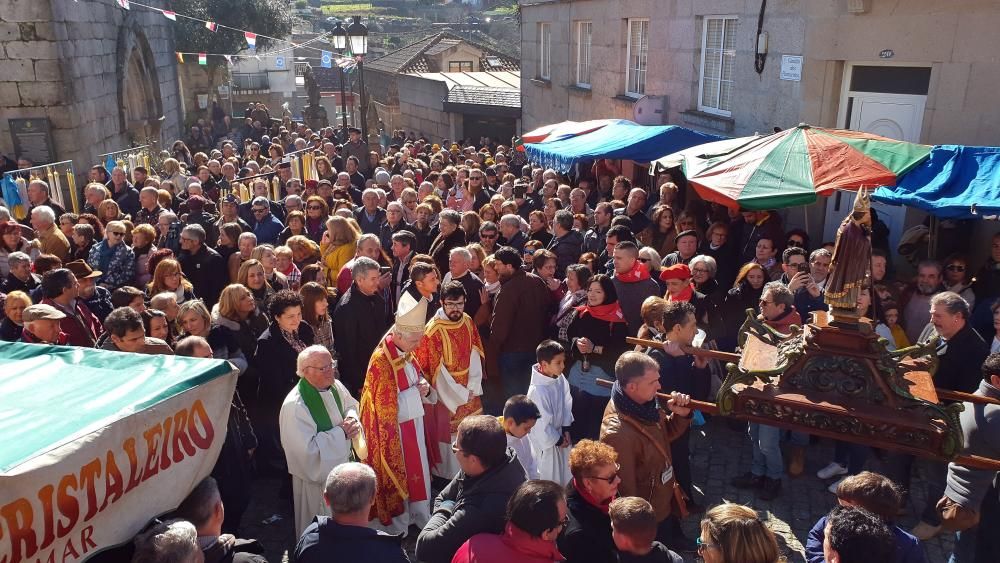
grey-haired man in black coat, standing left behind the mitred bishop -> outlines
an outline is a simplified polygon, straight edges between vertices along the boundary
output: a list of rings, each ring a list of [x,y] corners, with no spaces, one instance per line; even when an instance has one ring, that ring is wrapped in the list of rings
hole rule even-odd
[[[354,259],[354,282],[333,311],[333,345],[337,350],[341,382],[359,396],[368,360],[389,330],[385,299],[378,287],[378,262],[366,256]]]

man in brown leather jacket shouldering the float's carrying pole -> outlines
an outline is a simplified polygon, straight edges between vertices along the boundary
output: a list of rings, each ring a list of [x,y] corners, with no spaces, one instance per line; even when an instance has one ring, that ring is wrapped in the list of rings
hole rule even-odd
[[[626,352],[618,358],[615,378],[601,423],[601,441],[618,452],[618,494],[649,501],[659,522],[657,539],[675,551],[694,551],[694,542],[681,531],[680,518],[686,509],[670,458],[670,442],[691,425],[691,409],[687,407],[691,398],[674,392],[661,405],[656,396],[659,365],[638,352]]]

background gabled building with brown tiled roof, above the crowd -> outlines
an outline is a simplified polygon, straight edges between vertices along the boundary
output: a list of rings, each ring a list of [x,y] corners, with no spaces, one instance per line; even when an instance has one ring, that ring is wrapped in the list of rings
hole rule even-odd
[[[365,61],[365,91],[372,106],[369,115],[374,109],[389,130],[406,127],[401,102],[406,101],[409,92],[401,82],[409,76],[519,70],[519,62],[509,55],[451,32],[437,33],[384,57]],[[368,121],[374,123],[371,118]]]

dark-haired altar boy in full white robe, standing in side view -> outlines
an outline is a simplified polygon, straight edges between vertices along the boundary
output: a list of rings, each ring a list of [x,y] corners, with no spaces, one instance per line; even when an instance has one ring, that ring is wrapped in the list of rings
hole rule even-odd
[[[539,478],[565,485],[573,478],[569,471],[569,427],[573,424],[573,397],[569,381],[563,376],[566,349],[554,340],[546,340],[535,350],[538,363],[531,367],[528,398],[538,407],[541,417],[528,433],[531,454]]]

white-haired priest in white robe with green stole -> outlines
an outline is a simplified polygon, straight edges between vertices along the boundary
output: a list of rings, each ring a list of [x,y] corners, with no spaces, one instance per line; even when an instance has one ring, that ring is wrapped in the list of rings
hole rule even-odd
[[[361,431],[358,401],[336,379],[337,365],[324,346],[298,357],[299,383],[281,405],[278,423],[292,475],[295,537],[316,515],[330,516],[323,492],[330,471],[351,460],[351,439]]]

